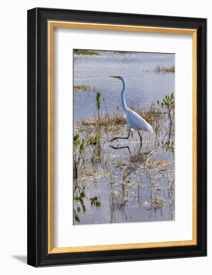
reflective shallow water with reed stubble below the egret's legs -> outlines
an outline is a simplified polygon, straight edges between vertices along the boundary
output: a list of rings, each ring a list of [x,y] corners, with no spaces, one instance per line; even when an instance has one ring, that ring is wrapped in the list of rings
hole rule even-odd
[[[92,169],[74,183],[74,224],[174,219],[173,147],[144,144],[106,142],[100,162],[92,148]]]

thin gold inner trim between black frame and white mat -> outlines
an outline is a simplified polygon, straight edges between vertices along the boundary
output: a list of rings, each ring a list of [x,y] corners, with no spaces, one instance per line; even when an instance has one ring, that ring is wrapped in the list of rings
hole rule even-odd
[[[123,31],[141,31],[157,33],[178,33],[192,35],[192,240],[108,244],[92,246],[58,247],[53,246],[53,30],[54,27],[110,29]],[[186,28],[168,28],[151,26],[133,26],[118,24],[97,24],[69,21],[48,21],[48,253],[71,253],[87,251],[106,251],[119,249],[138,249],[153,247],[186,246],[197,244],[197,30]]]

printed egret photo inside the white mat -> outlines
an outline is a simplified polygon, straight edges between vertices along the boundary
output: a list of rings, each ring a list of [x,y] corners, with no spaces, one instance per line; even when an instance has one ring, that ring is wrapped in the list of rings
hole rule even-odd
[[[174,57],[73,50],[73,225],[174,220]]]

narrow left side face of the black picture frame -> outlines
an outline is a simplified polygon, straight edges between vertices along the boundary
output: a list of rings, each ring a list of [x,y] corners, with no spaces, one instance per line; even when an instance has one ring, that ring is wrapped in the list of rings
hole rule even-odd
[[[37,250],[37,9],[27,11],[27,264],[38,265]]]

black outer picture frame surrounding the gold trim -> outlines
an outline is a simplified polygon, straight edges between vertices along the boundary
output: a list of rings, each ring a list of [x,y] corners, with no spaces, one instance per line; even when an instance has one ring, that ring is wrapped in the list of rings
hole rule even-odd
[[[197,245],[48,253],[48,20],[197,30]],[[27,11],[27,263],[52,266],[206,255],[206,19],[33,8]]]

